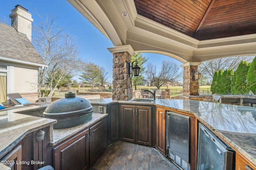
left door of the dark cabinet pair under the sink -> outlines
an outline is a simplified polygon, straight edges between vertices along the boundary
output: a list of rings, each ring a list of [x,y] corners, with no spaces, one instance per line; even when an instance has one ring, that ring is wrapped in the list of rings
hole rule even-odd
[[[135,143],[135,106],[121,105],[121,140]]]

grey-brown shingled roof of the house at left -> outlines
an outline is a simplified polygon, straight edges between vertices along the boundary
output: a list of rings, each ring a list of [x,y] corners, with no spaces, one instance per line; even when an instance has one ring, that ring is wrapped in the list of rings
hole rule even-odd
[[[30,62],[31,65],[45,64],[29,39],[20,35],[14,27],[0,23],[0,57]],[[4,59],[3,59],[4,60]]]

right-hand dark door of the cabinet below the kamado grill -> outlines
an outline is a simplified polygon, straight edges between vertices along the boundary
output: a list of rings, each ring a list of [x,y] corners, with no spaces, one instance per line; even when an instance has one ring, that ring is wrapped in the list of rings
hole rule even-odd
[[[106,149],[107,133],[106,119],[90,127],[90,165],[93,165]]]

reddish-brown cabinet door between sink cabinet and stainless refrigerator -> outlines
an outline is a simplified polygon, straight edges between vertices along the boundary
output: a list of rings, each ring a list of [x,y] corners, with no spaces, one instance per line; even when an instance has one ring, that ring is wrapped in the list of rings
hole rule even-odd
[[[166,155],[166,114],[164,109],[156,108],[156,149]]]

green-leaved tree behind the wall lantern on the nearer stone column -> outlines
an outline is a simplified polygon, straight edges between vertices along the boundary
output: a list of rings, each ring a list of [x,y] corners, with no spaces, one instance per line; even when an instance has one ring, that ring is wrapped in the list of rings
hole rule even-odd
[[[143,64],[146,63],[148,59],[146,59],[146,57],[143,57],[142,54],[136,53],[134,56],[132,56],[132,62],[134,61],[138,61],[138,66],[140,66],[139,76],[132,77],[132,82],[135,86],[135,90],[137,90],[136,85],[142,84],[143,80],[145,79],[143,76],[143,74],[145,73],[145,67],[143,66]],[[132,72],[132,75],[133,75],[133,72]]]

